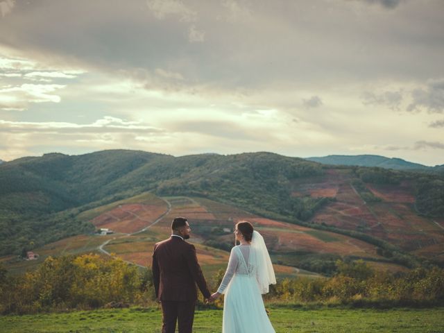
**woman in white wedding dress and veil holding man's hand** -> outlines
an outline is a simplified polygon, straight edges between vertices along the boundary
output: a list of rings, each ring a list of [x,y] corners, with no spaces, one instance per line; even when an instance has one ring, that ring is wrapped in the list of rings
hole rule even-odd
[[[237,223],[234,234],[240,245],[232,248],[221,285],[210,298],[225,293],[222,332],[275,333],[261,296],[276,283],[264,238],[247,221]]]

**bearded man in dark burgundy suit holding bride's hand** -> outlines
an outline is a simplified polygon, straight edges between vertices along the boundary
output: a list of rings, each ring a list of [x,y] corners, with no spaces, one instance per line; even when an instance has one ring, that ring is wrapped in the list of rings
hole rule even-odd
[[[198,285],[205,298],[211,294],[197,262],[196,248],[189,239],[187,219],[176,217],[171,223],[171,237],[155,244],[153,280],[155,296],[162,305],[162,333],[191,333]]]

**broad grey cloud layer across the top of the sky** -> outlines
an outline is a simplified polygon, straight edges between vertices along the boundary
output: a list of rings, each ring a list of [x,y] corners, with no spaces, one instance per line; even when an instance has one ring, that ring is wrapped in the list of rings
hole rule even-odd
[[[176,89],[310,91],[325,80],[430,77],[443,52],[441,0],[408,1],[390,19],[327,0],[28,2],[0,21],[0,44],[109,74],[162,68],[182,75]]]

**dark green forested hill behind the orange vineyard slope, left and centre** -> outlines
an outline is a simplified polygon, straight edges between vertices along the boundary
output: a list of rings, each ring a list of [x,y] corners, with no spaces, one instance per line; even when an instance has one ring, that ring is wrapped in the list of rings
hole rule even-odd
[[[76,218],[79,212],[144,191],[301,214],[317,200],[292,200],[289,181],[319,173],[318,164],[270,153],[173,157],[119,150],[20,158],[0,166],[0,253],[92,231]]]

